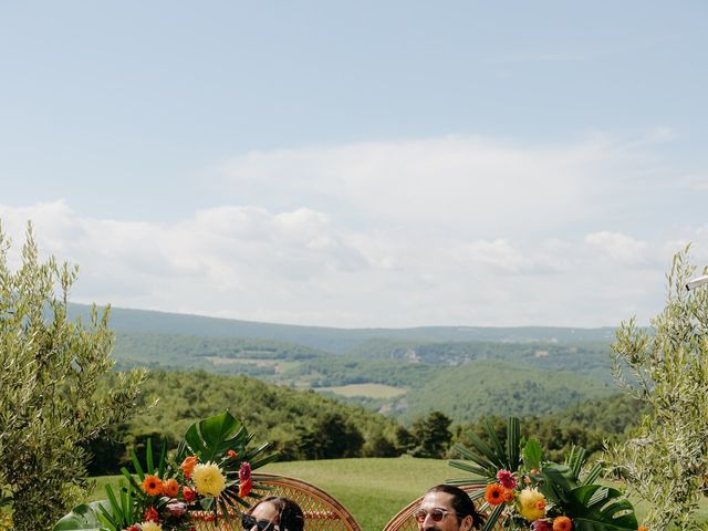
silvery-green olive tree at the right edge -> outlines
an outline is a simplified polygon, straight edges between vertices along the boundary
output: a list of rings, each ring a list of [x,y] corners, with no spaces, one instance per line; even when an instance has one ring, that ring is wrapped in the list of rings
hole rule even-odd
[[[695,272],[687,257],[688,248],[674,257],[666,306],[652,330],[632,319],[613,345],[615,378],[650,413],[610,449],[610,460],[647,501],[652,530],[694,529],[708,473],[708,285],[686,290]]]

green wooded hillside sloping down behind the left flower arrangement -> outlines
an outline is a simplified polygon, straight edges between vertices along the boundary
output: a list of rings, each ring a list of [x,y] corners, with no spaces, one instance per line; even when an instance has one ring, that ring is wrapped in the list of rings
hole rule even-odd
[[[113,386],[117,373],[105,385]],[[126,465],[131,450],[154,444],[175,445],[196,420],[229,410],[254,436],[270,441],[282,460],[398,455],[398,424],[363,407],[342,404],[312,391],[295,391],[247,376],[204,371],[150,371],[138,406],[157,404],[116,428],[91,448],[91,471],[106,473]]]

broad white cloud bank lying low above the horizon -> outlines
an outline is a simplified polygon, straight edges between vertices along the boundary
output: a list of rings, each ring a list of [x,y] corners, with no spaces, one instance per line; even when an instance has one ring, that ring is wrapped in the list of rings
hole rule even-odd
[[[32,219],[45,253],[81,264],[84,302],[340,326],[646,322],[678,243],[708,262],[704,219],[646,209],[681,191],[642,147],[668,134],[258,152],[222,166],[219,206],[169,223],[63,200],[0,218],[15,242]]]

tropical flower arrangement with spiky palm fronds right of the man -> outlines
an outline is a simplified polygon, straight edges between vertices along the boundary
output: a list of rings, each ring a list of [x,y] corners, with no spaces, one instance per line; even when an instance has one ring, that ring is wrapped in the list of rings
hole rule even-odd
[[[489,517],[483,531],[490,531],[500,517],[503,517],[502,525],[509,530],[637,530],[629,500],[617,489],[594,482],[602,471],[600,464],[581,479],[586,459],[584,449],[573,448],[565,462],[558,465],[543,460],[538,440],[521,440],[516,417],[509,418],[504,445],[490,423],[486,430],[491,445],[468,434],[475,448],[455,445],[452,451],[466,460],[450,461],[450,466],[480,478],[448,481],[480,487],[471,498],[485,499],[482,510],[488,510]]]

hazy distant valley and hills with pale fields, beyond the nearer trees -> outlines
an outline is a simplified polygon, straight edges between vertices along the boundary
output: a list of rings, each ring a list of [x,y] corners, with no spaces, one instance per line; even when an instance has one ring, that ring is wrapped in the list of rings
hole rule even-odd
[[[435,409],[458,423],[544,415],[616,391],[610,329],[344,330],[124,309],[110,323],[118,369],[249,375],[406,424]]]

